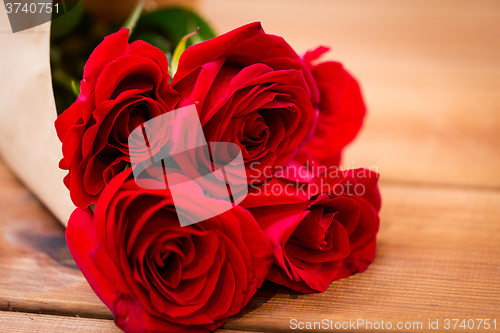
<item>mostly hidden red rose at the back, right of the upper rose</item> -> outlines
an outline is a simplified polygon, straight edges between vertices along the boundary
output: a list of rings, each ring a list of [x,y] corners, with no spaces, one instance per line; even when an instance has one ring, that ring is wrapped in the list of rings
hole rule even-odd
[[[314,137],[300,150],[298,163],[338,166],[342,149],[358,133],[366,113],[359,84],[342,64],[327,61],[314,64],[328,48],[307,52],[307,63],[320,91],[320,115]]]

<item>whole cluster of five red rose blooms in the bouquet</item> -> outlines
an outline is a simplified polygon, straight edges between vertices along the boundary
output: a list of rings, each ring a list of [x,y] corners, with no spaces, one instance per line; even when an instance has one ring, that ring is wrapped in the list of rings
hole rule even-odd
[[[212,331],[265,279],[324,291],[375,256],[378,175],[339,169],[356,80],[260,23],[191,36],[105,37],[55,122],[68,246],[126,332]]]

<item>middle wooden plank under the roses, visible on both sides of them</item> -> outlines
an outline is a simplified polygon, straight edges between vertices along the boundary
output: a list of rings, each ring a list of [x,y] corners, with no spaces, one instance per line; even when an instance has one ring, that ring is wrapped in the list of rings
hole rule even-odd
[[[500,192],[394,183],[381,189],[378,253],[365,273],[314,295],[266,283],[223,328],[284,332],[291,319],[324,318],[500,321]],[[111,318],[75,267],[62,227],[1,163],[0,211],[1,310]]]

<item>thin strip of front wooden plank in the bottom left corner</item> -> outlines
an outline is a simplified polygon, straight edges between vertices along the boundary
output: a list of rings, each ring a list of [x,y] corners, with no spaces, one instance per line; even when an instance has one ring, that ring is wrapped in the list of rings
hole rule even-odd
[[[122,332],[111,320],[0,311],[2,332],[88,333]]]

